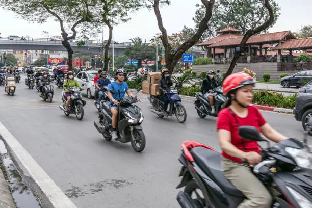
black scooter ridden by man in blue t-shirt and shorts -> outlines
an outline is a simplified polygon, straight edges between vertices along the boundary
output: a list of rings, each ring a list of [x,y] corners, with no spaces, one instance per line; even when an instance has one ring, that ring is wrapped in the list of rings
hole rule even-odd
[[[137,91],[140,91],[139,88]],[[114,90],[110,90],[111,94],[115,94]],[[137,94],[135,97],[124,97],[118,99],[118,117],[117,117],[117,141],[121,143],[130,142],[133,149],[141,152],[145,148],[145,135],[141,123],[143,122],[142,110],[132,105],[137,102]],[[99,121],[94,121],[94,126],[103,137],[110,141],[112,139],[112,113],[110,111],[111,103],[102,101],[100,103]]]

